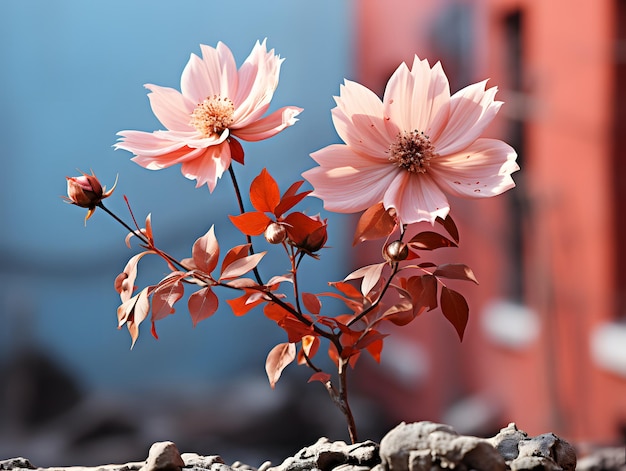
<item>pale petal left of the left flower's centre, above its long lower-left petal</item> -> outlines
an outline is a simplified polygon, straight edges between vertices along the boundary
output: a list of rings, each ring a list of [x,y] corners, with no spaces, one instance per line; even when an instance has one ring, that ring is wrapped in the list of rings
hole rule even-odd
[[[158,85],[146,84],[150,90],[148,98],[154,115],[167,129],[191,131],[189,124],[195,104],[185,98],[178,90]]]

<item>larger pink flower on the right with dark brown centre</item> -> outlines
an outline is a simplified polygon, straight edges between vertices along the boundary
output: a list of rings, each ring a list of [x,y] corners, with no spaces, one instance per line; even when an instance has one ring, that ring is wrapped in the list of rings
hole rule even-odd
[[[481,198],[515,186],[517,154],[508,144],[480,138],[502,102],[486,81],[450,96],[441,64],[415,56],[401,64],[381,101],[366,87],[346,80],[332,110],[345,144],[311,154],[319,164],[302,174],[312,196],[340,213],[380,202],[395,208],[399,222],[434,223],[450,211],[449,195]]]

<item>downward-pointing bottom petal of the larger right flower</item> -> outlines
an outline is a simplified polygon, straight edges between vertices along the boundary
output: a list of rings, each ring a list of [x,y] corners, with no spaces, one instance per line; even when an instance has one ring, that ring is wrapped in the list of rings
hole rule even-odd
[[[426,173],[401,171],[385,192],[383,204],[396,209],[402,224],[434,224],[437,216],[443,219],[450,211],[445,194]]]

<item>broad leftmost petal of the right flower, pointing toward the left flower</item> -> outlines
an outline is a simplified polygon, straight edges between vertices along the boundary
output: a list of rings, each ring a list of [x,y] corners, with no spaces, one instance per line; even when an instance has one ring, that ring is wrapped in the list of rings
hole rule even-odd
[[[322,199],[327,210],[340,213],[362,211],[382,201],[399,171],[342,144],[325,147],[311,157],[320,164],[302,174],[313,185],[311,195]]]

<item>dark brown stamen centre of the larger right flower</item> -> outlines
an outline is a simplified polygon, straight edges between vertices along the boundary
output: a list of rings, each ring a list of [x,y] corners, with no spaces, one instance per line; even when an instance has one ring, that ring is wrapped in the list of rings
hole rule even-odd
[[[411,173],[426,173],[436,157],[435,146],[421,131],[402,131],[389,146],[389,160]]]

